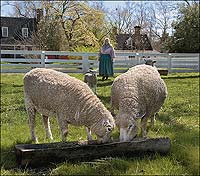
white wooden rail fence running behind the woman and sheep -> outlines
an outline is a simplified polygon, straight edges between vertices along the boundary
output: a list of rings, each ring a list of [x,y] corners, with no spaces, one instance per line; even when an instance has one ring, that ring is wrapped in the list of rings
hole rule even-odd
[[[10,58],[3,56],[9,55]],[[68,56],[73,59],[55,59],[49,56]],[[15,56],[15,58],[13,58]],[[17,56],[23,56],[19,58]],[[84,73],[98,68],[98,53],[2,50],[1,73],[26,73],[35,67],[53,68],[65,73]],[[199,53],[133,53],[116,52],[114,72],[122,73],[128,68],[144,63],[144,58],[156,60],[158,69],[171,72],[199,72]]]

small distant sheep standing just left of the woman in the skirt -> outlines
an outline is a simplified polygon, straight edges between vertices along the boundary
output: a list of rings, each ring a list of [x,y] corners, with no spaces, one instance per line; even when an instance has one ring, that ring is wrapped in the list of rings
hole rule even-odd
[[[94,86],[94,93],[96,94],[97,91],[97,71],[96,70],[89,70],[84,75],[84,82],[92,89]]]

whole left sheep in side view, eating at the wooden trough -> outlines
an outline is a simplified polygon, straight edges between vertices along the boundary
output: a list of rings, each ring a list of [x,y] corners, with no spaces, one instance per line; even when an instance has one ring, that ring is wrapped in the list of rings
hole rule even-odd
[[[25,106],[29,116],[32,140],[35,134],[36,111],[42,114],[47,138],[52,139],[49,116],[56,116],[62,140],[68,124],[85,126],[107,142],[115,126],[111,113],[83,81],[51,69],[36,68],[24,76]]]

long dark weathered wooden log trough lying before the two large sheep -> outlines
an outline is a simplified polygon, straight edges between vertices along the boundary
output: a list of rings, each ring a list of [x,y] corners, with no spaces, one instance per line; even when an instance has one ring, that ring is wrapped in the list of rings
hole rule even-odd
[[[135,154],[157,152],[167,154],[169,138],[138,138],[131,142],[92,144],[84,142],[57,142],[47,144],[18,144],[15,146],[17,164],[21,167],[43,167],[62,161],[89,161],[105,157],[133,157]]]

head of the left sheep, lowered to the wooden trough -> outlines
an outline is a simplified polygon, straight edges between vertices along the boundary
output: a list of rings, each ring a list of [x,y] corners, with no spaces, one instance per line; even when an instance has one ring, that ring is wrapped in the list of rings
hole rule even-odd
[[[97,135],[97,140],[100,142],[109,142],[111,140],[111,133],[115,128],[114,120],[103,119],[91,128],[91,131]]]

